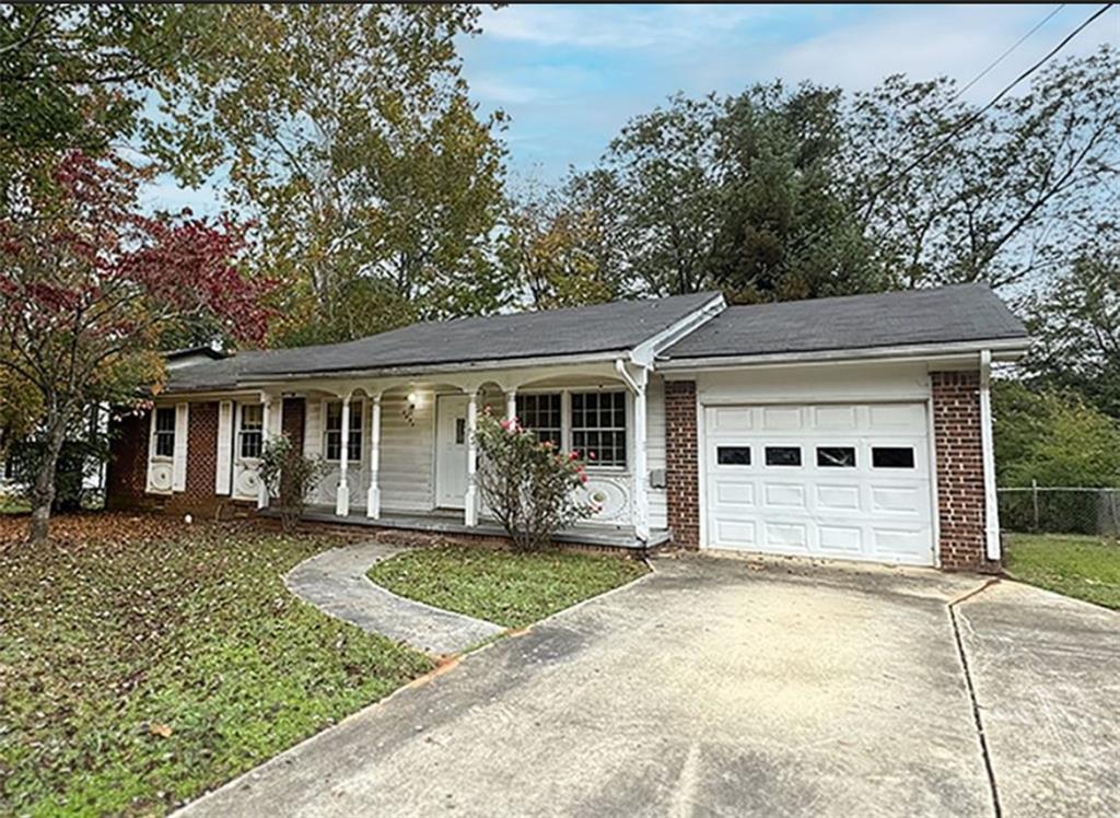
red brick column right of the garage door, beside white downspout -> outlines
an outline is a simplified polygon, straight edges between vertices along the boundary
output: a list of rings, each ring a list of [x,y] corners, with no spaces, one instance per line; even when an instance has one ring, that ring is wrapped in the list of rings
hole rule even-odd
[[[941,567],[999,570],[984,556],[980,373],[933,372],[933,433],[937,450]]]

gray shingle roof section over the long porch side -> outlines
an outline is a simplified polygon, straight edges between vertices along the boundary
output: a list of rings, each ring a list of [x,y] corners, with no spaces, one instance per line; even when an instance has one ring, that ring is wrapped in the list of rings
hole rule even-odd
[[[697,292],[589,307],[413,324],[342,344],[241,353],[174,370],[168,390],[231,388],[239,380],[393,366],[438,366],[632,350],[718,298]]]

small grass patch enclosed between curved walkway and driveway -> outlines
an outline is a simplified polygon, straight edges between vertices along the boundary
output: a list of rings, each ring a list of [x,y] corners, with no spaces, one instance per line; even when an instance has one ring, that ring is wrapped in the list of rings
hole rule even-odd
[[[645,573],[644,565],[622,557],[440,546],[379,563],[370,578],[410,599],[525,628]]]

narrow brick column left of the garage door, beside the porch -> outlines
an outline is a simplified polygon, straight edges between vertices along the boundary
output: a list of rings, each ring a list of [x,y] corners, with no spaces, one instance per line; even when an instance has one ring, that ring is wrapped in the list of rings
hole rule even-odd
[[[696,381],[665,381],[665,465],[673,542],[682,548],[699,548]]]

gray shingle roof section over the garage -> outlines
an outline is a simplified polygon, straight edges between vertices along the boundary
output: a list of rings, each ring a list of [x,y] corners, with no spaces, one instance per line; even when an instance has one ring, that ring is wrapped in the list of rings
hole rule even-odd
[[[664,352],[671,360],[1026,338],[983,285],[728,307]]]

